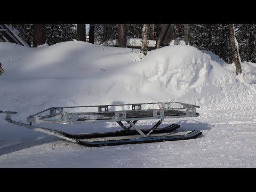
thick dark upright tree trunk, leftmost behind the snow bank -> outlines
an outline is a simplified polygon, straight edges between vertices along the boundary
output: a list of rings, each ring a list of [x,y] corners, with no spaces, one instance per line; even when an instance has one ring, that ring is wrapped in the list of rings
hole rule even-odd
[[[33,47],[45,43],[45,24],[34,24]]]

